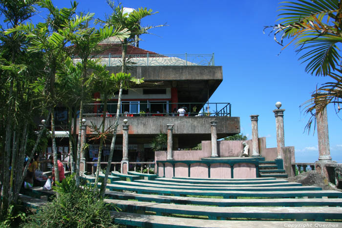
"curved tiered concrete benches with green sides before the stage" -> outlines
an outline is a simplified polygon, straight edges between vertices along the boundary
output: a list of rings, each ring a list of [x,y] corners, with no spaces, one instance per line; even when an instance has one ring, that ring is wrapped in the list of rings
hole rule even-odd
[[[342,192],[276,178],[157,178],[116,181],[107,188],[106,202],[122,209],[113,212],[115,221],[127,226],[255,227],[260,223],[247,220],[265,220],[262,227],[284,226],[284,221],[305,220],[312,226],[342,222]]]

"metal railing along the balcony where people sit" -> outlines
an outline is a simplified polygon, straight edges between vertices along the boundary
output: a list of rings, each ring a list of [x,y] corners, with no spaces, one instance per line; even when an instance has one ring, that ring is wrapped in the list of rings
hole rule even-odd
[[[103,116],[104,104],[85,104],[84,116]],[[169,102],[123,102],[120,116],[179,116],[178,109],[186,110],[184,116],[231,116],[230,103],[169,103]],[[107,104],[107,117],[114,117],[117,103]]]

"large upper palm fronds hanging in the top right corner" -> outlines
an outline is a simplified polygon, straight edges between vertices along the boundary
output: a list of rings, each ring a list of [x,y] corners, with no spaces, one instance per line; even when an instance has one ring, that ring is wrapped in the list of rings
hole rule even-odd
[[[278,25],[270,27],[276,41],[281,35],[280,45],[284,38],[291,39],[296,52],[303,52],[299,60],[307,63],[306,72],[326,76],[337,68],[341,60],[337,46],[342,42],[341,7],[339,0],[281,2]]]

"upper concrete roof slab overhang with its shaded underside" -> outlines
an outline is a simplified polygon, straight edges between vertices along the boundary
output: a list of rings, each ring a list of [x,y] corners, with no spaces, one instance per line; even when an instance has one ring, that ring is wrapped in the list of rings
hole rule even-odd
[[[107,66],[109,73],[120,66]],[[223,80],[222,66],[134,66],[128,73],[145,83],[137,87],[177,88],[178,102],[205,103]]]

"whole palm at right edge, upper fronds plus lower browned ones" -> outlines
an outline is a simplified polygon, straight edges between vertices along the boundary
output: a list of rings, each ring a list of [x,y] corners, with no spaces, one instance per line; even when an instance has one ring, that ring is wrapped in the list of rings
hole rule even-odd
[[[325,83],[313,92],[312,99],[301,105],[312,121],[327,104],[341,104],[342,67],[338,45],[342,42],[342,0],[297,0],[281,2],[278,24],[272,28],[274,39],[283,45],[284,39],[294,43],[305,71],[315,76],[328,76],[335,82]],[[280,40],[278,39],[280,36]],[[340,107],[340,106],[339,106]],[[316,113],[314,111],[316,110]]]

